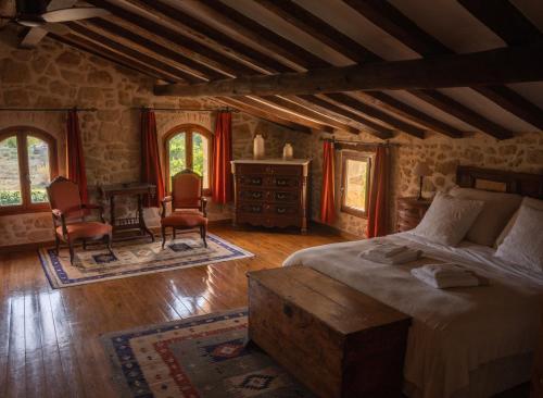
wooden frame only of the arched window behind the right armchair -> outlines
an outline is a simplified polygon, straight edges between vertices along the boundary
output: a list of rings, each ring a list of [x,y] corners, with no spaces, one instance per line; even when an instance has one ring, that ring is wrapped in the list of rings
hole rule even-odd
[[[213,134],[206,129],[205,127],[202,127],[198,124],[180,124],[172,129],[169,129],[165,135],[164,135],[164,171],[165,171],[165,186],[166,186],[166,191],[168,195],[172,194],[172,181],[169,178],[169,140],[174,138],[176,135],[185,133],[185,153],[186,153],[186,165],[187,169],[192,170],[192,133],[198,133],[207,138],[209,147],[207,147],[207,153],[209,159],[207,159],[207,170],[210,171],[209,173],[209,178],[210,181],[207,182],[207,185],[210,188],[206,188],[203,190],[204,196],[211,196],[211,186],[212,186],[212,167],[213,167]],[[203,176],[202,176],[203,177]]]

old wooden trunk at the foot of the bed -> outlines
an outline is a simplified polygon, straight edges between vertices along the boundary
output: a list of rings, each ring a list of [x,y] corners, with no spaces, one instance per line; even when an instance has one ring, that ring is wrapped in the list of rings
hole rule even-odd
[[[249,339],[318,397],[401,397],[411,318],[307,266],[249,273]]]

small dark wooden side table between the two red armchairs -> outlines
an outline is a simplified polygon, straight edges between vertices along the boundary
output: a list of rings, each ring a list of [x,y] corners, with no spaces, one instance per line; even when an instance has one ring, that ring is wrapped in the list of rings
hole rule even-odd
[[[146,225],[143,219],[143,195],[154,196],[156,186],[147,183],[112,184],[100,187],[100,192],[104,199],[110,200],[110,223],[113,226],[113,234],[119,231],[139,229],[141,234],[148,234],[152,241],[154,235]],[[137,196],[138,211],[135,217],[115,216],[115,197],[117,196]]]

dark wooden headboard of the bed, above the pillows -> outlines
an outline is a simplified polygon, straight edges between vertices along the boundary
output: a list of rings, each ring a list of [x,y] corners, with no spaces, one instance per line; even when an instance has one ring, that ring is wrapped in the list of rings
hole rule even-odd
[[[518,194],[543,199],[543,174],[458,166],[456,169],[456,184],[465,188]]]

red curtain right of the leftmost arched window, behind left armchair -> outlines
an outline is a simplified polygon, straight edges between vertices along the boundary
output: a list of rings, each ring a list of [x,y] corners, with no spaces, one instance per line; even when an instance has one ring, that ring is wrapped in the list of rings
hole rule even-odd
[[[87,203],[87,174],[85,172],[81,132],[79,130],[79,121],[76,109],[70,110],[67,114],[66,152],[67,177],[79,186],[81,202]]]

